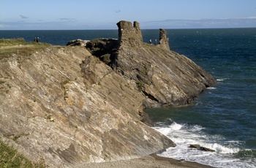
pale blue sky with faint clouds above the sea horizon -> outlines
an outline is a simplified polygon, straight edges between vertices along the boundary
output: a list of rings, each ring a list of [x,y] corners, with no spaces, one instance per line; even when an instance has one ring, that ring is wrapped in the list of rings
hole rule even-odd
[[[0,30],[256,27],[256,0],[0,0]]]

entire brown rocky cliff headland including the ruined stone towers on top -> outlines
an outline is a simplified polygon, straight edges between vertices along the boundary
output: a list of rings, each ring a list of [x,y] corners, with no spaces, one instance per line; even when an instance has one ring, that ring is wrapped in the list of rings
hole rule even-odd
[[[189,104],[214,79],[189,58],[143,43],[137,22],[118,39],[50,46],[0,59],[0,134],[49,167],[132,159],[175,144],[151,129],[143,109]],[[0,44],[1,45],[1,44]],[[1,47],[2,50],[2,47]],[[93,55],[89,52],[93,53]]]

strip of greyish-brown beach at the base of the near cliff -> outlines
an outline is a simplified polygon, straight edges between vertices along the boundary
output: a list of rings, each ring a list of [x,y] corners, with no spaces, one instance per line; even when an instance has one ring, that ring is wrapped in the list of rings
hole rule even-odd
[[[129,159],[121,161],[107,161],[102,163],[89,163],[79,166],[79,168],[214,168],[208,165],[199,164],[193,161],[178,161],[176,159],[165,158],[162,156],[157,156],[157,154],[151,154],[148,156],[143,156],[138,159]]]

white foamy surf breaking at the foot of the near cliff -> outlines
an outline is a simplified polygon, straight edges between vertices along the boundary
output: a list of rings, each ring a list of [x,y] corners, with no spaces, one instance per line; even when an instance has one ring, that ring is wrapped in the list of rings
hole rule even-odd
[[[239,156],[245,156],[248,153],[253,153],[252,156],[254,156],[255,151],[252,152],[238,148],[238,145],[243,143],[241,141],[227,141],[220,135],[206,134],[204,131],[205,128],[202,126],[190,126],[186,123],[173,122],[169,126],[163,126],[159,123],[154,129],[165,134],[170,140],[176,143],[175,148],[168,148],[165,152],[159,154],[159,156],[178,160],[197,161],[198,163],[207,164],[212,167],[254,167],[251,162],[245,163]],[[189,148],[191,144],[197,144],[215,151],[207,152]],[[252,159],[255,159],[255,157],[252,157]]]

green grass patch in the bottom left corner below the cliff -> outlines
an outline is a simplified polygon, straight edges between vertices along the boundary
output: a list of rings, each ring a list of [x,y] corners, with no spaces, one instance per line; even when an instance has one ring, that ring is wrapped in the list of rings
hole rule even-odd
[[[18,153],[17,150],[4,144],[4,142],[0,140],[0,167],[2,168],[9,168],[9,167],[43,168],[45,167],[45,164],[41,162],[33,163],[32,161],[29,161],[29,159],[24,157],[22,154]]]

